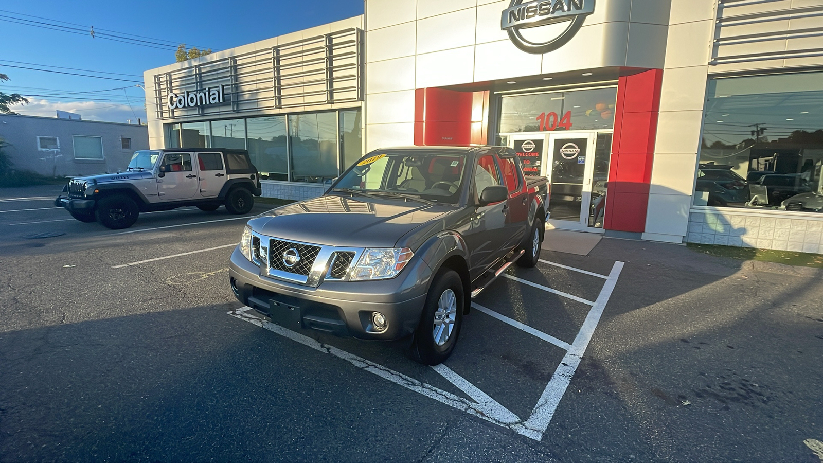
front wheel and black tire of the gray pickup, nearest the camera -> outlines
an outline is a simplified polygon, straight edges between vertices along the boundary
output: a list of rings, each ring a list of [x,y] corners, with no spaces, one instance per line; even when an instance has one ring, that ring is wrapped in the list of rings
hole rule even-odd
[[[443,304],[441,298],[449,301],[448,292],[453,296],[453,320],[450,324],[440,323],[435,325],[435,316],[442,320],[450,320],[452,311],[441,311],[440,306],[451,307],[450,304]],[[412,358],[424,365],[438,365],[449,358],[454,346],[458,343],[460,327],[463,325],[463,281],[452,269],[440,269],[435,275],[429,288],[429,294],[425,298],[423,313],[420,324],[414,335],[412,344]],[[448,326],[451,325],[451,332],[448,333]],[[435,329],[441,329],[441,333],[447,333],[445,339],[441,336],[435,340]],[[442,344],[439,344],[439,341]]]

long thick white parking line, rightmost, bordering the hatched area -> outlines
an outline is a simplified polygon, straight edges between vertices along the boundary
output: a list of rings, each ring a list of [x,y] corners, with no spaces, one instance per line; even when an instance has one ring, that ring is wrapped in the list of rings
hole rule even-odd
[[[600,290],[600,294],[597,296],[597,301],[594,302],[592,309],[588,311],[588,316],[586,316],[586,320],[583,322],[583,327],[580,328],[577,337],[574,338],[574,342],[571,344],[569,352],[563,356],[563,360],[560,362],[560,365],[557,366],[555,374],[551,376],[549,384],[546,385],[546,389],[543,391],[540,399],[537,400],[537,405],[532,409],[532,416],[524,423],[526,428],[535,429],[541,433],[541,439],[549,427],[551,417],[554,416],[557,405],[560,404],[560,399],[563,398],[566,388],[569,387],[574,372],[577,371],[580,359],[583,358],[583,354],[588,347],[588,342],[592,340],[594,329],[597,328],[597,323],[600,322],[600,316],[603,315],[603,309],[606,308],[606,304],[609,302],[609,297],[611,297],[611,292],[614,291],[617,278],[620,277],[622,269],[623,263],[620,261],[612,265],[609,278],[607,278],[606,283],[603,284],[603,288]]]

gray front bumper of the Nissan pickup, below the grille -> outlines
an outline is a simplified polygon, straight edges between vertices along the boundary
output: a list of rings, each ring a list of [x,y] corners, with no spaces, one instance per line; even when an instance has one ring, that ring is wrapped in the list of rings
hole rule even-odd
[[[238,248],[229,264],[231,289],[239,302],[279,325],[384,341],[404,338],[416,330],[431,277],[429,266],[415,259],[396,278],[327,281],[311,288],[262,276]],[[374,312],[388,320],[384,330],[374,329]]]

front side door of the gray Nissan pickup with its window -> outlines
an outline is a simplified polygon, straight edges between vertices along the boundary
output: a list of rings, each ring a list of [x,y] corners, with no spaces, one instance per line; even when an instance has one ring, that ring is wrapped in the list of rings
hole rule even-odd
[[[472,182],[477,194],[470,201],[475,201],[475,204],[478,204],[477,200],[487,186],[504,185],[495,155],[486,154],[477,160]],[[469,273],[472,278],[477,278],[503,256],[502,250],[507,241],[504,232],[508,206],[506,201],[475,206],[474,214],[463,232],[469,248]]]

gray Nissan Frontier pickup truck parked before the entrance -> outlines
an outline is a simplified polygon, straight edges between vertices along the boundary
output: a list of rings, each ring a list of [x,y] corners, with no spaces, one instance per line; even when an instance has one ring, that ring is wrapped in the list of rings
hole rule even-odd
[[[323,196],[249,220],[231,289],[290,330],[410,339],[436,365],[472,297],[509,265],[537,264],[548,186],[509,147],[370,152]]]

